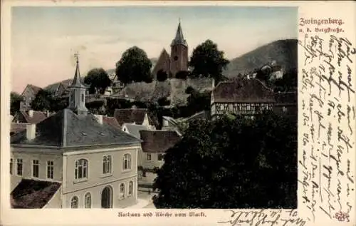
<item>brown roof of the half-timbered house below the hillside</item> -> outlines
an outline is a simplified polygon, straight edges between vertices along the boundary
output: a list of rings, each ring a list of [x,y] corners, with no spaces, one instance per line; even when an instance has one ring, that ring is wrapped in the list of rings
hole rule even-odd
[[[258,79],[220,82],[213,91],[217,103],[274,103],[273,91]]]

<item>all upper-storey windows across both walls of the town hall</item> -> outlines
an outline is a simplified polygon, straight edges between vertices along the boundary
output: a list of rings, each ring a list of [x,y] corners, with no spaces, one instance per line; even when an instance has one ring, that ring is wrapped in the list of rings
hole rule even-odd
[[[122,158],[122,170],[131,170],[131,155],[125,154]],[[75,160],[74,163],[74,175],[75,180],[88,178],[88,168],[89,163],[86,159],[79,159]],[[32,177],[39,178],[39,167],[40,162],[39,160],[32,160]],[[12,175],[12,170],[14,168],[14,162],[11,158],[10,160],[10,174]],[[47,178],[53,179],[54,173],[54,161],[48,160],[47,161]],[[112,173],[112,155],[104,155],[103,156],[103,174],[107,175]],[[22,176],[23,175],[23,160],[18,158],[16,160],[16,175]]]

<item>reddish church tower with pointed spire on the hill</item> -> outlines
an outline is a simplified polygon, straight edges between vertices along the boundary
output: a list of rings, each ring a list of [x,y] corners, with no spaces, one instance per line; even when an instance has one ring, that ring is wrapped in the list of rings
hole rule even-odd
[[[171,43],[170,72],[172,78],[175,78],[179,71],[188,71],[188,44],[184,39],[180,20],[176,36]]]

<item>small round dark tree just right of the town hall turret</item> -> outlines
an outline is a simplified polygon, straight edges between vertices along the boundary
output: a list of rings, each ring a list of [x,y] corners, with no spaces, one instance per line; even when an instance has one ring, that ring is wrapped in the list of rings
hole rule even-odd
[[[111,85],[111,80],[103,68],[94,68],[85,76],[84,83],[90,85],[90,94],[96,93],[97,91],[104,94],[106,88]]]

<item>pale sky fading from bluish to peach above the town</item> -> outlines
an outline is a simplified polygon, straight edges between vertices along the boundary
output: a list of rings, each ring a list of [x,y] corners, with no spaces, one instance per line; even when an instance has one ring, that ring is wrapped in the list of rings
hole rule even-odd
[[[83,76],[115,68],[131,46],[157,58],[169,51],[179,18],[189,55],[210,38],[231,59],[278,39],[297,38],[298,9],[246,6],[14,7],[11,18],[12,89],[72,78],[73,53]]]

